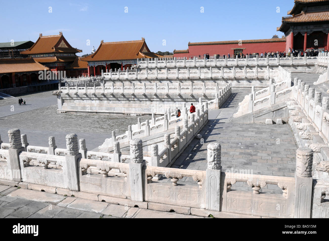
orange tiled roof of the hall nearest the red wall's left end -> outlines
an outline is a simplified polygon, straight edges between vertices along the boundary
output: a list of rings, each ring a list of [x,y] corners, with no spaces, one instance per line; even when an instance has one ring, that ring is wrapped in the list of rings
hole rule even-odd
[[[145,58],[157,58],[145,43],[145,39],[121,42],[103,42],[92,55],[84,57],[83,61],[106,61],[106,60],[135,60]]]

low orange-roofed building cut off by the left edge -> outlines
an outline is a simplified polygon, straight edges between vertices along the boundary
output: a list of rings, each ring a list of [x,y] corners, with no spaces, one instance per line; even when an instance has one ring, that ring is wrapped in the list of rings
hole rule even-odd
[[[11,88],[38,83],[38,72],[49,70],[32,58],[0,59],[0,87]]]

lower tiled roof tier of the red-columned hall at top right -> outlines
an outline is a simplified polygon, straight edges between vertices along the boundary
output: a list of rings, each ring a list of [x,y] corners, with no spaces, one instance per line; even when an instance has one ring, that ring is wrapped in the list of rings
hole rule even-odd
[[[301,12],[297,15],[282,17],[282,24],[276,31],[283,31],[285,23],[307,23],[329,21],[329,12]]]

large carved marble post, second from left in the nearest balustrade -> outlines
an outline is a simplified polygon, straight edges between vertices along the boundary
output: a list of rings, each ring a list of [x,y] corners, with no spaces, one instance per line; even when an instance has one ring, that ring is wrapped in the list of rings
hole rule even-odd
[[[79,153],[78,136],[71,133],[65,139],[67,155],[63,161],[64,186],[66,189],[79,191],[77,161],[82,155]]]

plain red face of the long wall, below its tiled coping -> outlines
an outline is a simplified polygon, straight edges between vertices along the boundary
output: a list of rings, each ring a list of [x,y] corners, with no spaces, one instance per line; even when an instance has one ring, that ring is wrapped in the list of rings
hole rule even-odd
[[[239,44],[214,44],[214,45],[189,45],[189,53],[174,53],[174,57],[188,57],[189,59],[194,56],[208,53],[210,56],[214,54],[220,54],[220,56],[226,55],[229,53],[231,58],[233,57],[234,50],[236,48],[244,48],[242,51],[243,54],[246,53],[259,53],[263,54],[268,51],[286,51],[286,42],[269,42],[269,43],[242,43]],[[289,46],[288,46],[289,48]]]

